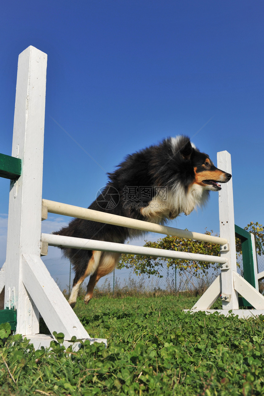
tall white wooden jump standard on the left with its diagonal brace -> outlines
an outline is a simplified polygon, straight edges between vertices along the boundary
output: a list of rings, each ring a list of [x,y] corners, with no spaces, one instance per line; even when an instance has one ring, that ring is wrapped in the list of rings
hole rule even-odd
[[[17,310],[16,333],[35,348],[53,339],[39,334],[39,312],[51,334],[94,341],[40,259],[46,67],[47,55],[32,46],[19,55],[12,156],[22,159],[22,172],[10,185],[6,263],[0,272],[4,308]]]

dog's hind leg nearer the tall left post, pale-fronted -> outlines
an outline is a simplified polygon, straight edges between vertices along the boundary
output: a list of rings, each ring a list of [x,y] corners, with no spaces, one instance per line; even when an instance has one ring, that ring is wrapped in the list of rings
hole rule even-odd
[[[84,282],[85,278],[88,275],[96,272],[97,267],[99,266],[101,253],[102,253],[101,251],[97,251],[97,250],[93,251],[93,255],[91,259],[88,261],[85,271],[83,273],[78,272],[78,270],[76,271],[76,275],[73,280],[72,291],[70,293],[70,298],[68,299],[68,303],[72,308],[74,308],[76,304],[78,291],[80,289],[82,282]]]

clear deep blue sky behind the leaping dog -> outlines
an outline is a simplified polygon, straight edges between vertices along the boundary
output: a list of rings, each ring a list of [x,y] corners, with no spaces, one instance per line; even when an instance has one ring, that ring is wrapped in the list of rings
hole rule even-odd
[[[47,53],[43,198],[87,207],[125,155],[195,135],[215,164],[218,151],[232,156],[236,224],[263,223],[263,8],[243,0],[6,2],[0,152],[11,154],[17,59],[32,45]],[[0,179],[0,266],[8,191]],[[67,221],[50,215],[43,229]],[[218,193],[169,225],[218,232]]]

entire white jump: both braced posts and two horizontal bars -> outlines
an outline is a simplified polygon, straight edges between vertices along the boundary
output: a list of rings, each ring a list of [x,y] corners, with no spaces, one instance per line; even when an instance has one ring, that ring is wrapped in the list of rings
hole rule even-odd
[[[264,314],[264,297],[237,274],[232,179],[222,184],[219,192],[220,237],[42,201],[46,66],[47,55],[32,46],[19,55],[12,156],[21,158],[22,172],[10,185],[6,263],[0,271],[0,292],[5,287],[4,307],[17,310],[16,333],[30,339],[35,348],[49,346],[53,338],[39,334],[41,314],[51,334],[53,331],[64,333],[65,346],[73,336],[77,340],[106,344],[106,339],[89,336],[51,278],[40,258],[41,254],[47,254],[48,245],[219,263],[221,274],[197,301],[192,312],[213,312],[210,308],[221,294],[223,309],[217,312],[228,315],[232,310],[239,317],[245,317],[245,314],[249,315],[248,310],[238,309],[240,293],[255,308],[253,315]],[[228,152],[218,153],[217,160],[218,168],[232,173]],[[220,244],[220,257],[41,234],[41,219],[47,217],[47,212],[214,242]],[[78,348],[78,342],[74,347]]]

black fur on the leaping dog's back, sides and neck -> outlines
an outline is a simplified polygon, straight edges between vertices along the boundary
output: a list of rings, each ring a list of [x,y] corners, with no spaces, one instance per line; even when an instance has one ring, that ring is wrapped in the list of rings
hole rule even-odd
[[[192,146],[188,137],[181,136],[177,139],[165,139],[159,145],[153,145],[128,155],[113,173],[108,174],[109,181],[106,187],[102,194],[89,206],[89,209],[139,220],[164,223],[169,217],[174,218],[179,215],[182,211],[181,207],[168,207],[167,212],[160,213],[159,220],[156,217],[153,219],[147,218],[141,213],[141,210],[148,207],[151,200],[157,196],[159,188],[165,189],[170,194],[170,197],[175,198],[175,202],[178,202],[179,198],[184,202],[188,198],[187,195],[190,194],[190,186],[195,182],[196,174],[205,170],[203,164],[206,159],[210,161],[210,170],[215,171],[216,169],[218,171],[208,155],[199,152],[197,148]],[[228,174],[225,173],[225,175]],[[227,179],[225,181],[229,180]],[[222,180],[222,182],[225,181]],[[214,184],[216,186],[217,183],[214,182]],[[142,187],[147,187],[148,196],[140,196],[139,193],[136,193],[131,199],[125,193],[127,188],[139,191]],[[178,197],[177,194],[182,196]],[[202,204],[206,200],[209,190],[204,189],[201,194],[203,194],[200,199],[201,202],[196,202],[197,205]],[[112,205],[109,207],[111,200]],[[170,200],[167,205],[173,206],[174,204],[171,204]],[[74,219],[67,227],[61,228],[59,232],[53,232],[53,234],[58,235],[118,242],[121,244],[127,238],[140,233],[140,231],[137,232],[125,227],[82,219]],[[71,248],[62,248],[62,250],[74,267],[76,273],[74,284],[76,284],[80,277],[84,276],[87,263],[92,257],[92,251]]]

